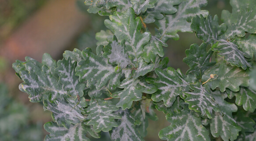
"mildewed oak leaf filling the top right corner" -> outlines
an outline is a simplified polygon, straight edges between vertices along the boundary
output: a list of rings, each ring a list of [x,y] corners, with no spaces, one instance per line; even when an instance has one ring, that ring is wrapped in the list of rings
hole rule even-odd
[[[221,19],[227,25],[225,32],[226,39],[244,37],[245,32],[256,33],[256,2],[255,0],[230,0],[230,5],[233,7],[232,14],[223,10]]]

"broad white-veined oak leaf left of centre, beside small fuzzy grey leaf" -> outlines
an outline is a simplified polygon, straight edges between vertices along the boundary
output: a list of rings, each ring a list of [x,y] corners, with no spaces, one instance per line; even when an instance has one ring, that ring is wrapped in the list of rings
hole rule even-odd
[[[79,76],[80,82],[87,82],[87,87],[96,85],[97,89],[101,89],[109,81],[109,89],[116,89],[123,74],[115,73],[115,67],[108,64],[107,59],[102,57],[102,52],[103,46],[97,47],[97,56],[90,48],[84,49],[83,60],[79,61],[75,68],[76,75]]]

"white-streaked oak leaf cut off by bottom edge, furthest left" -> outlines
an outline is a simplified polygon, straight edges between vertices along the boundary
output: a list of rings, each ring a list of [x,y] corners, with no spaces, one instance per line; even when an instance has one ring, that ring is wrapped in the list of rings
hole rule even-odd
[[[47,122],[44,128],[50,133],[46,135],[45,141],[90,141],[90,139],[85,136],[87,131],[93,137],[100,138],[100,134],[95,133],[91,126],[86,126],[83,123],[72,124],[67,129],[54,122]]]

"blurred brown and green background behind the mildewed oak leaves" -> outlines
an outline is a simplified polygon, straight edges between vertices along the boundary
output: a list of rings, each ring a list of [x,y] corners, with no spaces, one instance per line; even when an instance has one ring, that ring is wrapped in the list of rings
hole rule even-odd
[[[52,120],[51,113],[19,91],[22,81],[12,63],[25,61],[25,56],[41,62],[45,52],[59,60],[65,50],[90,47],[95,51],[95,33],[106,30],[104,20],[108,17],[90,14],[87,8],[84,0],[0,0],[0,141],[42,141],[48,134],[43,124]],[[219,19],[223,9],[231,12],[229,0],[208,0],[202,9]],[[179,35],[180,39],[169,40],[164,50],[169,66],[185,73],[189,69],[182,62],[185,50],[202,41],[194,33]],[[161,141],[158,132],[170,124],[165,115],[156,113],[158,121],[149,119],[146,141]],[[108,134],[102,136],[108,138]]]

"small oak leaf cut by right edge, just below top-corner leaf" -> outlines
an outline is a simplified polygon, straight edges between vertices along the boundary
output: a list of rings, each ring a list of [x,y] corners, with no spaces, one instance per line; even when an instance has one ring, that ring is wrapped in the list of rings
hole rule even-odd
[[[249,58],[252,58],[256,53],[256,34],[251,34],[248,38],[237,37],[235,42],[240,48],[242,48],[243,52],[250,56]]]

